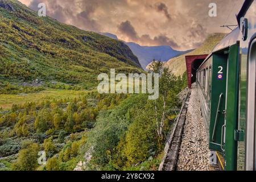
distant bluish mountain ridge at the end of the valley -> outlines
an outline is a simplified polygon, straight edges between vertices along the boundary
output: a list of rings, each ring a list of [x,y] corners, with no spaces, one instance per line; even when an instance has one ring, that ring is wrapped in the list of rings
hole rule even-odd
[[[116,35],[108,32],[100,34],[109,36],[113,39],[118,39]],[[133,51],[134,55],[138,57],[139,63],[141,63],[143,69],[146,69],[147,65],[154,59],[159,61],[168,61],[173,57],[183,55],[184,53],[188,52],[176,51],[170,46],[140,46],[139,44],[133,42],[126,42],[126,44],[129,46],[131,51]]]

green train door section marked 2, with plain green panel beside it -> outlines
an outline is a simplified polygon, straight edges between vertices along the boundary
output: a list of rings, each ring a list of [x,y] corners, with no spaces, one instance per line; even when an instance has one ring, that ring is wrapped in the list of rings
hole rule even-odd
[[[210,150],[222,170],[237,168],[239,46],[213,55]]]

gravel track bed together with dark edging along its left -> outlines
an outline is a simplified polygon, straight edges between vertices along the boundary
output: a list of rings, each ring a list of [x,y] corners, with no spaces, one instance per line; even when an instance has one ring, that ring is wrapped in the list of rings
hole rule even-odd
[[[168,138],[160,171],[209,170],[208,135],[197,94],[193,85]]]

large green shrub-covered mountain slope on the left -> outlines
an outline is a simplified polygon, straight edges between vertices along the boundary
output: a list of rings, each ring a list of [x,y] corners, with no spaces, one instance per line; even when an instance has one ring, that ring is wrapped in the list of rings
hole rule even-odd
[[[142,72],[125,43],[39,17],[16,0],[0,0],[0,79],[40,78],[92,84],[101,72]]]

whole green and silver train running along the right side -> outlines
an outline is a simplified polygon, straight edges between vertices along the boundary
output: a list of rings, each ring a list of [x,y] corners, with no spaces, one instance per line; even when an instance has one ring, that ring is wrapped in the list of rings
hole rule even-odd
[[[246,0],[237,20],[197,69],[196,82],[212,166],[255,170],[256,1]]]

